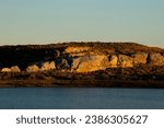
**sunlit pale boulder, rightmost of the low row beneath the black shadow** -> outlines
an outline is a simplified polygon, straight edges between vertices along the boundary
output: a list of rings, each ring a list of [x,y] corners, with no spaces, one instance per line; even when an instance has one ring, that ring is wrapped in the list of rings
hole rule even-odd
[[[40,70],[52,70],[56,69],[54,61],[46,61],[42,63]]]

